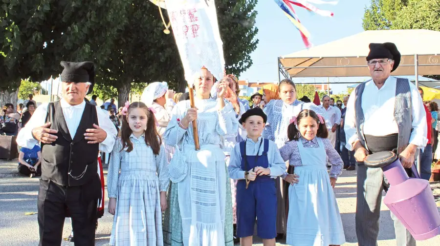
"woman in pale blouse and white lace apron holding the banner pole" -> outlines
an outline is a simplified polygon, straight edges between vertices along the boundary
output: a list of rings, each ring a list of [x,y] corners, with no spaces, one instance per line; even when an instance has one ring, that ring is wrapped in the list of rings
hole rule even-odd
[[[222,148],[223,137],[236,134],[238,123],[232,105],[224,100],[228,83],[220,82],[217,100],[210,94],[213,84],[211,72],[200,69],[194,81],[196,108],[188,100],[178,102],[163,135],[167,144],[179,146],[169,165],[173,183],[163,225],[165,245],[233,245],[231,186]]]

